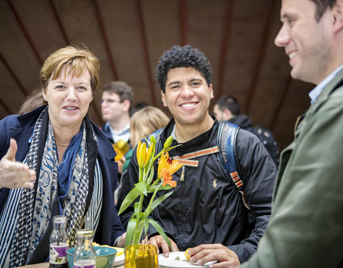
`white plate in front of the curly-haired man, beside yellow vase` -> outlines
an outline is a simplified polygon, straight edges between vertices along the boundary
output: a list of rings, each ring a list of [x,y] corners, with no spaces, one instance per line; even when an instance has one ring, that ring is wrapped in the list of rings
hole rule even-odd
[[[177,259],[179,257],[179,260]],[[163,254],[159,254],[159,268],[174,268],[174,267],[187,267],[187,268],[200,268],[209,267],[210,264],[214,264],[216,261],[207,262],[203,265],[187,262],[184,252],[169,252],[169,257],[166,258]]]

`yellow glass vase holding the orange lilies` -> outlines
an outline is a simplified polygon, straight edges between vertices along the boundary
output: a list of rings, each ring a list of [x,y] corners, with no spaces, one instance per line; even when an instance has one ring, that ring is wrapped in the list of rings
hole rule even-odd
[[[158,268],[157,248],[152,244],[132,244],[126,247],[124,268]]]

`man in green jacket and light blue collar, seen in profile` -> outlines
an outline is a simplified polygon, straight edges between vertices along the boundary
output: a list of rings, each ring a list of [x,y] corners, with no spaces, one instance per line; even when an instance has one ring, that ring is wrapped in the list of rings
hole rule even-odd
[[[343,267],[343,0],[282,0],[281,21],[275,44],[292,77],[317,86],[282,152],[264,237],[241,267]],[[235,267],[216,245],[189,254]]]

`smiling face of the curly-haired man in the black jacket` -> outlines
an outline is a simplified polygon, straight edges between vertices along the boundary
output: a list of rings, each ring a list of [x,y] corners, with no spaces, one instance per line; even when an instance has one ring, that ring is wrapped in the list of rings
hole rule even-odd
[[[166,77],[164,106],[182,125],[200,125],[209,116],[209,101],[213,99],[212,84],[193,67],[170,69]]]

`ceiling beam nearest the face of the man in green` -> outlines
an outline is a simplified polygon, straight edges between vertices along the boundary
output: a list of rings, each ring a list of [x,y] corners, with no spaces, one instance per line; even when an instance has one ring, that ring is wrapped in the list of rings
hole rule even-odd
[[[250,109],[252,107],[252,99],[254,99],[254,95],[256,92],[257,84],[258,84],[258,79],[259,75],[261,73],[262,69],[262,64],[264,60],[264,52],[266,51],[266,47],[268,45],[268,39],[269,35],[272,30],[272,21],[274,18],[274,14],[277,14],[276,12],[277,9],[277,1],[272,0],[272,4],[270,4],[269,9],[268,9],[268,18],[266,21],[266,24],[264,26],[264,33],[262,36],[262,44],[260,46],[259,51],[257,51],[257,61],[253,70],[253,75],[252,75],[252,83],[250,85],[250,88],[247,93],[247,102],[245,104],[245,113],[249,115]]]

